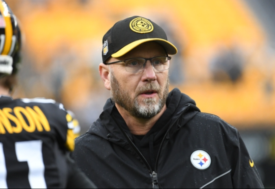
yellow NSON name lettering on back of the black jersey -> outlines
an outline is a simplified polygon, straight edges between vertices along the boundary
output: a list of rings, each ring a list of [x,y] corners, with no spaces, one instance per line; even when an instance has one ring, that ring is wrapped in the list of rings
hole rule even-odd
[[[0,134],[50,131],[48,119],[38,106],[0,109]]]

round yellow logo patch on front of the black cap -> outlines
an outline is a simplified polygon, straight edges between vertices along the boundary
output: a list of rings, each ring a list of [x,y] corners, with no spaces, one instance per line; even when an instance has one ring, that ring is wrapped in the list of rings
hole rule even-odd
[[[130,28],[136,33],[149,33],[154,30],[153,24],[141,17],[137,17],[130,22]]]

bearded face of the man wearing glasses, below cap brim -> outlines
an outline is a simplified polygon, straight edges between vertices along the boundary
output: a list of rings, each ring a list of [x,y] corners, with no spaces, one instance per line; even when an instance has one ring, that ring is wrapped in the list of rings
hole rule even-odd
[[[156,42],[139,45],[119,58],[152,58],[165,56],[165,50]],[[108,62],[118,59],[111,58]],[[168,70],[156,71],[150,61],[142,72],[127,72],[122,64],[110,65],[111,94],[115,103],[132,116],[149,119],[157,115],[164,107],[169,93]]]

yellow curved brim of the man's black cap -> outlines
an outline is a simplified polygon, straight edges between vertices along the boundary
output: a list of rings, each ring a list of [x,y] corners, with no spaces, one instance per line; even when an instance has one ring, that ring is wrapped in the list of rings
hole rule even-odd
[[[128,53],[130,50],[134,49],[135,47],[137,47],[138,45],[148,42],[148,41],[157,41],[159,42],[166,50],[166,52],[168,54],[177,54],[178,53],[178,49],[169,41],[166,41],[164,39],[160,39],[160,38],[148,38],[148,39],[140,39],[137,41],[134,41],[128,45],[126,45],[125,47],[123,47],[122,49],[120,49],[118,52],[112,54],[112,57],[114,58],[118,58],[123,56],[124,54]]]

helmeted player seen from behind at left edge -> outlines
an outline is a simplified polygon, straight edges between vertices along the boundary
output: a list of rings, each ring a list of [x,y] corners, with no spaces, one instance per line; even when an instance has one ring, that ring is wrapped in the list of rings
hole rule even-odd
[[[11,97],[21,32],[3,0],[0,52],[0,188],[96,188],[69,157],[79,127],[63,105],[51,99]]]

